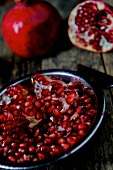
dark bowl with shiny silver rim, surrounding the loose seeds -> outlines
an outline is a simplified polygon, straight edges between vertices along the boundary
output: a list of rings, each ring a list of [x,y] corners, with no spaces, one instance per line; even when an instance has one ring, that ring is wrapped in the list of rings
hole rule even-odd
[[[41,161],[41,162],[32,162],[32,163],[28,162],[28,163],[24,163],[24,164],[8,162],[4,158],[0,157],[0,168],[18,169],[18,170],[19,169],[20,170],[27,169],[28,170],[28,169],[34,169],[34,168],[48,166],[48,165],[55,163],[57,161],[64,160],[65,158],[69,157],[70,155],[73,155],[74,153],[81,150],[91,140],[91,138],[95,135],[96,131],[99,129],[99,127],[102,123],[102,120],[104,117],[104,112],[105,112],[105,97],[104,97],[102,89],[99,87],[98,83],[94,79],[86,77],[83,74],[79,74],[79,72],[77,72],[77,71],[63,70],[63,69],[43,70],[43,71],[38,71],[37,73],[43,74],[46,76],[54,75],[54,76],[62,79],[65,82],[69,82],[69,81],[73,80],[74,78],[79,78],[79,80],[81,82],[83,82],[84,84],[86,84],[87,86],[91,87],[94,90],[96,97],[97,97],[98,106],[99,106],[98,114],[96,116],[96,119],[95,119],[92,127],[87,132],[87,134],[75,146],[73,146],[70,150],[68,150],[68,152],[66,151],[65,153],[62,153],[59,156],[53,157],[52,159],[49,159],[49,160],[45,160],[45,161]],[[11,83],[8,83],[0,90],[0,95],[2,95],[6,91],[6,88],[8,86],[16,85],[18,83],[25,83],[25,84],[29,83],[29,81],[31,80],[33,75],[34,75],[34,73],[20,77],[16,80],[12,81]]]

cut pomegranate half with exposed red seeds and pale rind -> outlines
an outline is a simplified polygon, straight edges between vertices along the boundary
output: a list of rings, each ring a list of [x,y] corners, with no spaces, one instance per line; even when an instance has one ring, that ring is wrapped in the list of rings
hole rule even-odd
[[[68,36],[75,46],[93,51],[113,49],[113,7],[99,0],[79,3],[68,18]]]

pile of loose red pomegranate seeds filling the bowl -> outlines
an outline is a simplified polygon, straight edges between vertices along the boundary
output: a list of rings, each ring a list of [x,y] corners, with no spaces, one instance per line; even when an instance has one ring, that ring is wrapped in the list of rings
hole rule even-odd
[[[0,101],[0,155],[24,163],[68,151],[97,116],[94,91],[79,80],[35,74],[28,85],[6,89]]]

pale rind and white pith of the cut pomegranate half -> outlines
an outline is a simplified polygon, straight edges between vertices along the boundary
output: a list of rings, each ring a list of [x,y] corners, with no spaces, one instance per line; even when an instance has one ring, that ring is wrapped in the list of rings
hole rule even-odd
[[[90,37],[88,36],[88,32],[90,30],[89,29],[84,32],[84,33],[77,33],[78,30],[78,26],[75,23],[75,17],[77,16],[77,11],[81,6],[84,6],[86,3],[94,3],[97,5],[98,10],[107,10],[109,12],[109,14],[107,14],[107,18],[111,21],[110,25],[107,25],[107,30],[106,31],[110,31],[110,34],[113,34],[113,8],[109,5],[107,5],[105,2],[102,1],[98,1],[98,0],[93,0],[93,1],[85,1],[82,2],[80,4],[78,4],[76,7],[74,7],[69,15],[68,18],[68,36],[70,41],[72,42],[72,44],[78,48],[84,49],[84,50],[88,50],[88,51],[92,51],[92,52],[108,52],[110,50],[113,49],[113,43],[110,43],[106,40],[106,38],[104,37],[104,35],[101,35],[101,40],[100,40],[100,46],[102,47],[101,50],[97,50],[94,49],[92,47],[92,45],[89,44],[89,40],[94,40],[94,35],[91,35]],[[84,41],[87,43],[87,45],[85,43],[83,43],[82,41],[80,41],[80,39],[77,39],[77,36],[79,36],[80,38],[83,38]]]

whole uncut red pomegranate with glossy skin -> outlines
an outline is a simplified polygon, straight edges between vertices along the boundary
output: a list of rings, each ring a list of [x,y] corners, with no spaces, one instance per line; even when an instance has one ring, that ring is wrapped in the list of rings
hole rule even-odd
[[[9,48],[27,58],[44,55],[59,34],[61,16],[49,2],[15,0],[2,21],[2,35]]]

